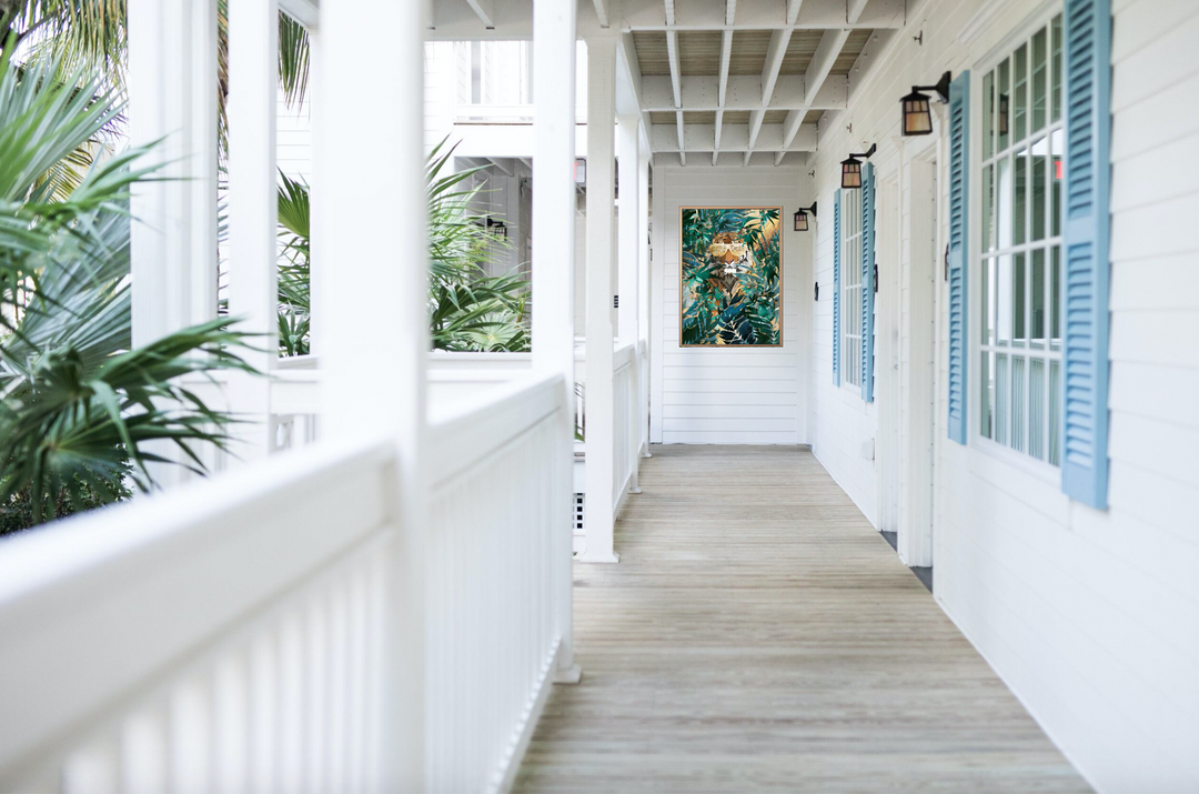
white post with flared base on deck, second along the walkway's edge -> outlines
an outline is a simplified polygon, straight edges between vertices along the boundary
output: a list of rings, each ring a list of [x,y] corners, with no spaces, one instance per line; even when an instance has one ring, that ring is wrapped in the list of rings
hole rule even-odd
[[[538,66],[538,68],[541,68]],[[536,96],[536,95],[535,95]],[[616,563],[613,551],[611,269],[615,200],[616,40],[588,41],[588,378],[585,563]],[[536,228],[536,224],[534,225]],[[536,300],[536,299],[535,299]]]

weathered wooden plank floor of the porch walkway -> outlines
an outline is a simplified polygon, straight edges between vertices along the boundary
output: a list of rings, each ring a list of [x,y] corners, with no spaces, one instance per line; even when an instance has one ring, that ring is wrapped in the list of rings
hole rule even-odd
[[[1086,792],[811,452],[655,446],[518,792]]]

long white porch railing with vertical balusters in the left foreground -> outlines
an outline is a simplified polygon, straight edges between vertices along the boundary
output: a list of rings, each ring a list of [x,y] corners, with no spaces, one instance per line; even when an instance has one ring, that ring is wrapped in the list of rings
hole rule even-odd
[[[567,631],[564,395],[513,384],[434,422],[428,527],[399,525],[396,453],[373,444],[6,541],[0,790],[502,787]],[[423,630],[388,642],[414,602]],[[427,769],[388,765],[420,741]]]

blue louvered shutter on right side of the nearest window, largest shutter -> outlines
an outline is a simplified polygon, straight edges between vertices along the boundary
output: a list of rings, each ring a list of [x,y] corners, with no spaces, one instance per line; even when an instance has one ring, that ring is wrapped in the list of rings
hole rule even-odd
[[[1110,0],[1067,0],[1064,35],[1061,485],[1071,499],[1102,510],[1108,503]]]

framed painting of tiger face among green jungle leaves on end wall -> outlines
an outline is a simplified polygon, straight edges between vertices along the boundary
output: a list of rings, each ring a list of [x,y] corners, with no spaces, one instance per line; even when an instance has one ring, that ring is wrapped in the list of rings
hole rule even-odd
[[[680,210],[682,347],[782,344],[782,207]]]

